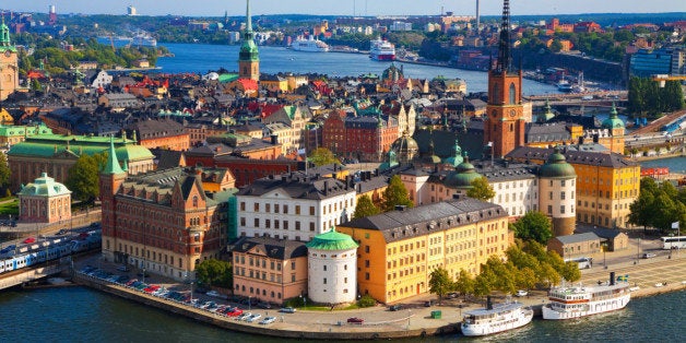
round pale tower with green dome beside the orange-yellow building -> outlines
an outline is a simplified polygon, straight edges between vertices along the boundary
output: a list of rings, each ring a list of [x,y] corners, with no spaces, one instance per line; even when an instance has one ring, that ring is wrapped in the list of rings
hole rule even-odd
[[[577,218],[575,168],[567,163],[565,155],[555,149],[546,163],[541,166],[539,176],[540,209],[553,220],[553,234],[555,236],[573,234]]]

